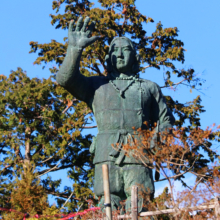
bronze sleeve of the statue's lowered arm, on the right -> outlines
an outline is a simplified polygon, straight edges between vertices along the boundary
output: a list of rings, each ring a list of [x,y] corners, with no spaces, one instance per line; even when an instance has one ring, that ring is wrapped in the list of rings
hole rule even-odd
[[[164,131],[167,128],[172,128],[175,118],[172,112],[166,105],[165,98],[160,87],[154,83],[151,87],[152,105],[151,105],[151,120],[157,123],[158,130]]]

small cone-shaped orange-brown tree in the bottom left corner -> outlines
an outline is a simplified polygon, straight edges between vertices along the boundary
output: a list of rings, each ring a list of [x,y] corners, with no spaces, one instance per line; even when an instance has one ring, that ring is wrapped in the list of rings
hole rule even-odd
[[[5,220],[23,220],[24,217],[39,218],[40,216],[55,215],[59,212],[56,206],[49,206],[47,193],[43,185],[40,184],[40,179],[36,178],[34,166],[25,167],[20,179],[17,177],[13,181],[11,197],[8,202],[14,210],[3,213],[2,217]]]

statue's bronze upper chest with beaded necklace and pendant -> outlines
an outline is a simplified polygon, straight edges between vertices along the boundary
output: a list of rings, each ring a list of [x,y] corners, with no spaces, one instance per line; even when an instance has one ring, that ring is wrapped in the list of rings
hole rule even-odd
[[[141,81],[113,80],[96,89],[93,111],[144,109],[150,102],[150,94]]]

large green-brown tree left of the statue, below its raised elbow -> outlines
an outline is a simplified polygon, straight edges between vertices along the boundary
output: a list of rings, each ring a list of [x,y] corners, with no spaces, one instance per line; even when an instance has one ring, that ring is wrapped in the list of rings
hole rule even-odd
[[[33,165],[35,178],[41,178],[45,193],[58,197],[60,206],[72,193],[71,189],[60,191],[61,180],[45,178],[48,172],[70,168],[69,175],[76,180],[74,201],[89,199],[93,176],[88,151],[91,135],[83,136],[80,131],[91,110],[74,100],[52,78],[30,79],[21,68],[12,71],[8,78],[1,76],[0,100],[0,192],[4,195],[1,206],[13,208],[9,200],[14,180]],[[74,113],[70,115],[72,106]],[[86,166],[91,169],[86,170]],[[76,202],[72,211],[77,209]]]

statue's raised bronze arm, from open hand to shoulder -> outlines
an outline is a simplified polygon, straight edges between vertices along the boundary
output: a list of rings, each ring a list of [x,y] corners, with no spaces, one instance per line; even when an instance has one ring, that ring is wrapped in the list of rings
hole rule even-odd
[[[79,18],[74,31],[74,23],[73,21],[70,22],[67,54],[56,75],[56,80],[61,86],[67,89],[76,98],[83,101],[87,101],[88,96],[92,92],[92,82],[89,77],[80,74],[80,58],[83,49],[99,38],[98,36],[89,37],[95,26],[94,22],[88,26],[89,21],[90,19],[88,17],[84,22],[82,17]]]

